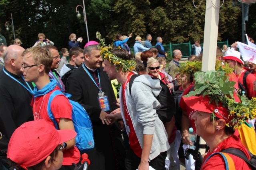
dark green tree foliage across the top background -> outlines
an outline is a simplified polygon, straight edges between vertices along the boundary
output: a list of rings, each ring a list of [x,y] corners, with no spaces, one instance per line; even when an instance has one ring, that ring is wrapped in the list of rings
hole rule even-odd
[[[194,0],[198,6],[201,0]],[[222,1],[221,1],[222,2]],[[76,6],[83,5],[82,0],[0,0],[0,30],[8,45],[14,41],[12,31],[6,31],[4,23],[11,21],[12,12],[16,37],[25,48],[38,40],[38,33],[54,42],[56,47],[68,48],[69,35],[76,33],[87,43],[86,26],[82,8],[78,7],[82,17],[76,18]],[[117,33],[133,37],[128,41],[132,47],[135,37],[142,40],[149,33],[152,44],[156,37],[163,38],[163,44],[192,43],[196,39],[203,41],[205,5],[203,1],[195,8],[192,0],[86,0],[86,17],[90,40],[97,41],[96,31],[106,37],[106,43],[112,43]],[[250,6],[247,33],[256,39],[255,5]],[[232,0],[225,0],[220,8],[218,41],[241,41],[241,9],[232,6]]]

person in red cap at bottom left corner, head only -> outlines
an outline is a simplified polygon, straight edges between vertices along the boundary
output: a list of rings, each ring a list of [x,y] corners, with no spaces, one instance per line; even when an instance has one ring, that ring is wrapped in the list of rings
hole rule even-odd
[[[44,119],[18,127],[9,142],[7,158],[10,170],[56,170],[61,167],[66,142],[74,139],[70,129],[56,130]]]

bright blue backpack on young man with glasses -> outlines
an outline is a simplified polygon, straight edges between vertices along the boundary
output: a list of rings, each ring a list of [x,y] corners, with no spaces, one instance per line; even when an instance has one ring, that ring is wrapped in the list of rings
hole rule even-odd
[[[56,122],[52,111],[51,111],[51,102],[55,96],[64,95],[67,98],[70,98],[71,94],[63,94],[60,90],[55,90],[50,95],[47,110],[50,119],[53,121],[55,128],[58,129],[58,123]],[[92,133],[92,122],[84,107],[82,107],[78,102],[69,100],[72,105],[72,121],[74,124],[76,135],[76,147],[80,151],[86,151],[94,148],[94,139]]]

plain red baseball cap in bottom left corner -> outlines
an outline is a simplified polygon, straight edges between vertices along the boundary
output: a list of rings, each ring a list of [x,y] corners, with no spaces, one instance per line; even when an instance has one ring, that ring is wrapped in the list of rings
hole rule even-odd
[[[29,121],[12,134],[7,158],[26,169],[42,162],[58,145],[75,137],[75,131],[71,129],[57,131],[44,119]]]

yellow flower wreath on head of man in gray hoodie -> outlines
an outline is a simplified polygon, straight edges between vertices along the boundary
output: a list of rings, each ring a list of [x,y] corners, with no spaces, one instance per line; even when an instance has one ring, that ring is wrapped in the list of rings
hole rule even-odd
[[[122,68],[122,72],[132,72],[135,70],[136,62],[134,60],[124,60],[114,55],[111,52],[112,46],[106,46],[105,39],[101,38],[100,32],[96,33],[96,38],[100,40],[98,45],[98,48],[100,49],[100,55],[103,57],[103,59],[108,60],[111,64],[113,63],[116,66],[117,72],[120,68]],[[118,49],[121,49],[121,47],[118,47]]]

